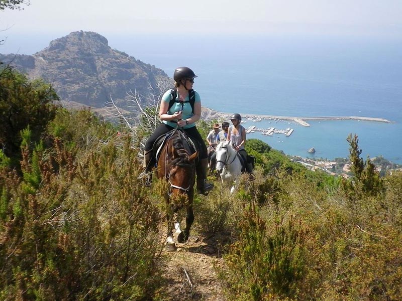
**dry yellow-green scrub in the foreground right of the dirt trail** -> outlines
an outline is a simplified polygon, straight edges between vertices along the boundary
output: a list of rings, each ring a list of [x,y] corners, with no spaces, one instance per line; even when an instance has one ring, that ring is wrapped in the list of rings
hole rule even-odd
[[[303,174],[277,176],[283,193],[262,206],[248,197],[238,241],[220,271],[228,299],[397,300],[400,175],[386,178],[385,194],[359,199],[342,186],[328,193]]]

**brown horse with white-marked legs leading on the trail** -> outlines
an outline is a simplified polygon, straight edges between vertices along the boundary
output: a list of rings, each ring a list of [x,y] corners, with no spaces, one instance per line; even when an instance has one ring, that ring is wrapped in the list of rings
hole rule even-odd
[[[157,175],[169,184],[167,194],[167,237],[173,237],[173,213],[185,206],[186,225],[177,237],[180,243],[186,242],[194,221],[192,201],[194,199],[195,159],[198,152],[192,153],[184,132],[175,129],[161,149],[158,159]]]

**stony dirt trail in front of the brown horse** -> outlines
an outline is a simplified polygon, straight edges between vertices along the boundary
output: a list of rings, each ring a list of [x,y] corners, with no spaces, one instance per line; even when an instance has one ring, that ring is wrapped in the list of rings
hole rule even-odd
[[[166,300],[226,300],[214,267],[223,264],[220,250],[225,240],[220,235],[192,236],[184,244],[176,242],[175,252],[164,251],[169,257],[164,270]]]

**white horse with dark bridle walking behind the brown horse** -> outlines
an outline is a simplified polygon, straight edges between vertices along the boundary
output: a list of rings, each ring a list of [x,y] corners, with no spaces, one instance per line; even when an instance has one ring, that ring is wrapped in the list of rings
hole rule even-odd
[[[219,143],[215,150],[216,169],[221,176],[223,184],[232,185],[230,193],[235,191],[235,184],[237,178],[241,174],[242,164],[235,149],[233,149],[230,141],[223,141]]]

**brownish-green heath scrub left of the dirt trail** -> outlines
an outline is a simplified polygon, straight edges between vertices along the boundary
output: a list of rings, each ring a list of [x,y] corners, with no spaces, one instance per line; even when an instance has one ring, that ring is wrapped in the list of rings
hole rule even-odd
[[[149,299],[162,245],[137,151],[87,111],[60,112],[51,128],[72,140],[31,149],[27,129],[23,176],[0,172],[0,299]]]

